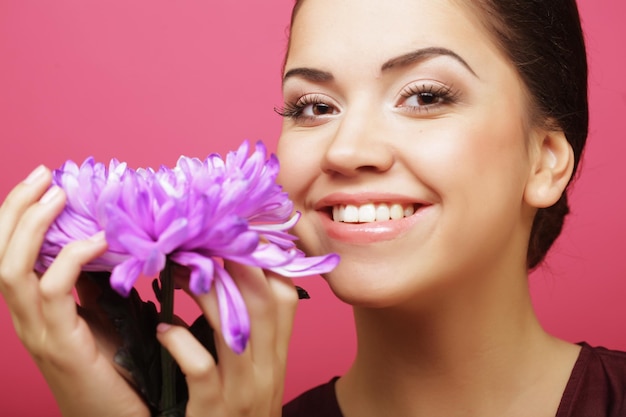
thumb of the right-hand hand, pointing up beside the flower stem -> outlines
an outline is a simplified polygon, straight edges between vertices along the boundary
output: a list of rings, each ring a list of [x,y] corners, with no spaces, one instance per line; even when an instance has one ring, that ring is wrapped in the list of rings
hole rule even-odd
[[[190,405],[211,409],[221,403],[222,386],[213,357],[185,328],[161,323],[157,326],[157,339],[172,355],[187,379]],[[194,415],[187,410],[187,415]],[[219,415],[219,413],[216,413]]]

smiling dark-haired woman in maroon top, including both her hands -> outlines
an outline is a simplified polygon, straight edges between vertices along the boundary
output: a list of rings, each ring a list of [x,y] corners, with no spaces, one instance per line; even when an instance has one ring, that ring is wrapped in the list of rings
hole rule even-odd
[[[303,249],[342,256],[325,278],[354,306],[358,353],[284,415],[626,415],[626,356],[547,334],[528,292],[567,213],[585,86],[573,1],[297,3],[281,182]],[[68,295],[102,237],[69,246],[41,281],[30,272],[63,205],[58,190],[41,197],[48,184],[37,170],[0,210],[18,333],[67,415],[146,415]],[[158,337],[187,375],[188,415],[280,415],[293,288],[231,269],[250,349],[222,349],[216,367],[182,327]],[[198,302],[216,323],[212,296]]]

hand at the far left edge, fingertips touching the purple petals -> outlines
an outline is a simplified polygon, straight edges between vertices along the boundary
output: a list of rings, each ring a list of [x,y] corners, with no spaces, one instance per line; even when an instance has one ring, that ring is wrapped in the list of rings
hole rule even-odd
[[[81,265],[106,250],[104,236],[67,245],[41,277],[33,271],[44,235],[65,204],[61,189],[48,189],[50,181],[50,171],[40,167],[0,206],[0,292],[15,331],[63,415],[148,416],[113,365],[114,340],[106,331],[94,336],[72,295]]]

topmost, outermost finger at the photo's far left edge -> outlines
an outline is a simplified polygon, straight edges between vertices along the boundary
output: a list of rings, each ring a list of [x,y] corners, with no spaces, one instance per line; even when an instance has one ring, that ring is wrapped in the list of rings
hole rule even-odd
[[[0,206],[0,258],[13,235],[15,227],[26,209],[41,197],[50,185],[50,171],[43,165],[15,186]]]

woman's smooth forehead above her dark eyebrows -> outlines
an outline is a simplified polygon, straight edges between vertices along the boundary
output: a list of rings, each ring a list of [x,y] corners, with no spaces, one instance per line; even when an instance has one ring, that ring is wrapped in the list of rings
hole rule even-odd
[[[291,28],[287,66],[346,59],[380,65],[433,46],[476,62],[499,52],[464,1],[306,0]]]

